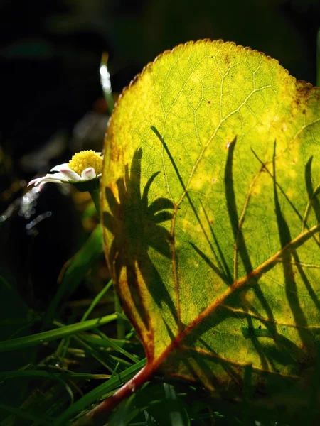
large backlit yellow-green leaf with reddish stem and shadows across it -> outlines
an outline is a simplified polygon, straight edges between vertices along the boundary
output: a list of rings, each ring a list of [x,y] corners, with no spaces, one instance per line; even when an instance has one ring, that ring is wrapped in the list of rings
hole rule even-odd
[[[154,371],[231,399],[249,386],[315,403],[319,193],[319,89],[221,41],[144,68],[107,131],[102,209],[147,364],[109,405]]]

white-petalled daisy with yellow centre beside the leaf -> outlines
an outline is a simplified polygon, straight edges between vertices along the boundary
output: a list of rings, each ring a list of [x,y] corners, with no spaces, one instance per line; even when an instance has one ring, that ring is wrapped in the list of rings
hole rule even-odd
[[[83,184],[98,180],[102,175],[102,155],[92,150],[80,151],[69,163],[55,165],[50,172],[58,173],[47,173],[42,178],[33,179],[28,186],[39,185],[41,189],[48,182],[73,183],[79,190],[87,191],[87,185]]]

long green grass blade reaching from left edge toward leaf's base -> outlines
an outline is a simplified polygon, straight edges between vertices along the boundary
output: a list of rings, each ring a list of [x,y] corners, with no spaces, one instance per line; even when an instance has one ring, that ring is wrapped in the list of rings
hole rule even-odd
[[[18,339],[6,340],[4,342],[0,342],[0,352],[16,351],[17,349],[26,348],[28,346],[36,346],[37,344],[41,344],[43,342],[51,342],[56,339],[70,336],[71,334],[76,334],[95,327],[100,327],[101,325],[108,324],[114,320],[117,320],[117,315],[106,315],[105,317],[96,318],[95,320],[87,320],[78,322],[76,324],[66,325],[65,327],[49,330],[48,332],[31,334],[26,337],[19,337]]]

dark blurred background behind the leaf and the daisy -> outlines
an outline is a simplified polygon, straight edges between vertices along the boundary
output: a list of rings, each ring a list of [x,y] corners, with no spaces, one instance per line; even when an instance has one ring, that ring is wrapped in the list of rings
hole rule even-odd
[[[97,223],[87,195],[26,183],[77,151],[102,150],[102,52],[115,97],[156,55],[200,38],[250,46],[315,84],[319,24],[317,0],[1,0],[0,276],[45,312],[60,269]],[[74,297],[97,290],[80,286]],[[4,317],[8,291],[1,285]]]

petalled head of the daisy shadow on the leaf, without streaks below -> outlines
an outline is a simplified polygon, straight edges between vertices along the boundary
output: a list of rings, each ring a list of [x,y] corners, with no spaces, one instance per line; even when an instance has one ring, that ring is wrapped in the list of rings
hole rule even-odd
[[[140,148],[134,153],[130,173],[126,165],[124,178],[117,180],[119,202],[109,187],[105,189],[112,215],[104,212],[103,222],[114,234],[110,263],[114,263],[116,258],[125,263],[127,256],[137,257],[149,246],[166,258],[171,257],[169,231],[159,224],[172,219],[172,213],[166,209],[173,209],[174,204],[167,198],[158,198],[148,205],[149,190],[159,172],[149,178],[141,194],[141,159]]]

